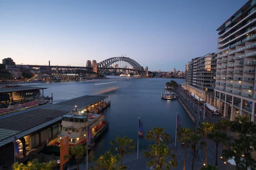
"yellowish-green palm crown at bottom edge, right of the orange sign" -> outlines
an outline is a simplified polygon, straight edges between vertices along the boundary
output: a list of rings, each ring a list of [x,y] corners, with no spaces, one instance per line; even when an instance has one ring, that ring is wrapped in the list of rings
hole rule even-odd
[[[117,162],[120,159],[120,154],[113,155],[110,151],[106,151],[104,155],[99,156],[99,159],[96,160],[94,167],[88,167],[89,170],[126,170],[124,164],[116,166]]]

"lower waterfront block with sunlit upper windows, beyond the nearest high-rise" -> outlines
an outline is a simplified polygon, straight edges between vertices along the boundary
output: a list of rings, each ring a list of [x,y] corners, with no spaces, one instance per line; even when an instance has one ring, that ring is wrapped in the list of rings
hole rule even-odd
[[[192,59],[186,65],[185,87],[189,93],[200,96],[206,102],[214,99],[215,53]]]

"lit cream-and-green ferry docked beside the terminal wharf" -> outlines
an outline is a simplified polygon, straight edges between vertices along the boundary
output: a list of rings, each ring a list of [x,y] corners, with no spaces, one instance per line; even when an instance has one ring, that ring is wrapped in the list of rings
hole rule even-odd
[[[108,128],[108,122],[104,121],[105,116],[99,114],[85,113],[84,111],[70,112],[62,116],[62,129],[54,145],[59,145],[63,136],[69,136],[69,146],[85,144],[87,142],[87,126],[90,130],[90,142],[94,144],[99,136]],[[92,139],[93,137],[93,139]]]

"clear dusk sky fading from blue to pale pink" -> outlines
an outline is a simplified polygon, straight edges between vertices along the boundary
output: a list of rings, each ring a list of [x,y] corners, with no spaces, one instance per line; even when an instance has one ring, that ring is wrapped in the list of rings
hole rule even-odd
[[[184,71],[217,51],[218,31],[247,0],[0,0],[0,56],[85,66],[125,55]]]

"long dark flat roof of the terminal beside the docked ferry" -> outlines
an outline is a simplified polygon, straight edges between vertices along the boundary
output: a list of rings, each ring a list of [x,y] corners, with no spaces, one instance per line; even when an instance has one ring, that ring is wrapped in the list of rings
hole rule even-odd
[[[77,108],[96,103],[106,96],[81,96],[57,104],[46,104],[23,111],[17,111],[0,116],[0,147],[16,139],[29,135],[47,125],[61,120],[61,116]]]

